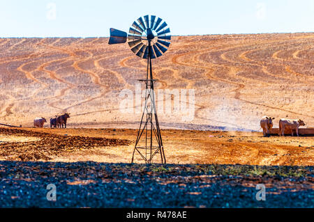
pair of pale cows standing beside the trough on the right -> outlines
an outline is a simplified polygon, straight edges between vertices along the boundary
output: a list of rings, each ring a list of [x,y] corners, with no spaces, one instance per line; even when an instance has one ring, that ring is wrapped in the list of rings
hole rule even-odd
[[[262,119],[260,120],[260,127],[262,127],[262,129],[263,129],[264,136],[270,135],[271,128],[274,126],[273,120],[274,120],[274,118],[271,118],[270,116],[263,116]],[[299,127],[305,126],[305,125],[306,124],[301,119],[299,119],[299,120],[288,120],[285,118],[281,118],[279,120],[278,135],[279,136],[285,136],[285,129],[290,129],[292,136],[294,134],[294,130],[297,133],[297,136],[299,136]]]

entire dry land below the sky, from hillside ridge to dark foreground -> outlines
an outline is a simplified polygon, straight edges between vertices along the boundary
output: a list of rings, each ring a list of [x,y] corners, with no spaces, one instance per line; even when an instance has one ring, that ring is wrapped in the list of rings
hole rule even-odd
[[[313,207],[314,138],[251,131],[264,115],[314,125],[314,33],[173,37],[153,62],[156,88],[194,89],[195,115],[158,113],[167,166],[107,164],[130,162],[141,114],[119,95],[146,69],[107,42],[0,39],[0,123],[71,113],[70,129],[0,127],[0,207]]]

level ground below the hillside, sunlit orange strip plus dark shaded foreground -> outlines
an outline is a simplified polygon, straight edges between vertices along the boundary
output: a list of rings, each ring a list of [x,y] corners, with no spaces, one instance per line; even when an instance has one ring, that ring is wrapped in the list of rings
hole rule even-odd
[[[313,208],[313,137],[162,130],[167,165],[125,164],[135,133],[0,127],[0,207]]]

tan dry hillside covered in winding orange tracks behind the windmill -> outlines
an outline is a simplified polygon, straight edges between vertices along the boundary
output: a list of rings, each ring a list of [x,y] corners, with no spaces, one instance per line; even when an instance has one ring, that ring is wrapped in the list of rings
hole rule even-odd
[[[31,126],[68,111],[70,127],[136,128],[140,113],[119,110],[119,93],[134,92],[145,61],[107,42],[0,39],[0,122]],[[313,45],[313,33],[174,36],[153,61],[156,88],[195,89],[195,116],[160,112],[161,127],[260,130],[264,115],[276,117],[275,127],[283,117],[313,126]]]

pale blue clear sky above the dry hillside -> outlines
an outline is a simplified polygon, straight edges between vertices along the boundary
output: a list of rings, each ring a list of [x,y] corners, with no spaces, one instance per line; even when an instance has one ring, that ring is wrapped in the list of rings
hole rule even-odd
[[[0,0],[0,38],[107,37],[144,15],[172,35],[314,31],[314,0]]]

